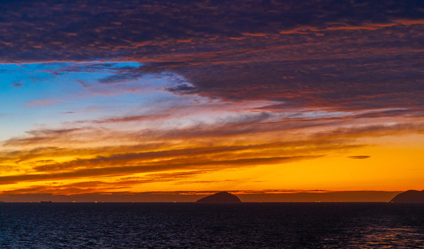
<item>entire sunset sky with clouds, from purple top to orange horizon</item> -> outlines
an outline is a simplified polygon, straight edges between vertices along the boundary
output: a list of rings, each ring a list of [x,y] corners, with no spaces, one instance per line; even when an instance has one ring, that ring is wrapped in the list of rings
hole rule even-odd
[[[423,189],[423,1],[0,7],[0,199]]]

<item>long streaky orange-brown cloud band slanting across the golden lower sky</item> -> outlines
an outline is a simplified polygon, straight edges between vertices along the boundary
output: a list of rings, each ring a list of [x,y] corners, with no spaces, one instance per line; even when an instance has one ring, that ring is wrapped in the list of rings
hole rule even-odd
[[[257,118],[266,118],[264,113],[259,113]],[[261,119],[259,119],[261,120]],[[181,142],[186,138],[194,140],[196,136],[205,138],[205,133],[193,131],[192,129],[175,130],[172,129],[166,133],[160,133],[159,141],[154,141],[154,131],[146,134],[145,144],[136,145],[115,145],[109,147],[87,147],[87,140],[103,140],[109,139],[107,133],[93,133],[89,127],[87,129],[42,129],[28,131],[32,138],[12,138],[6,142],[6,145],[52,145],[53,141],[60,141],[60,144],[68,145],[68,147],[36,147],[36,149],[22,149],[15,151],[0,151],[0,166],[18,162],[21,167],[26,165],[28,168],[25,174],[17,172],[14,175],[0,176],[1,184],[12,184],[26,181],[51,181],[57,179],[76,179],[91,177],[116,177],[131,176],[131,174],[140,173],[158,173],[169,172],[175,170],[195,170],[207,172],[212,170],[237,169],[240,167],[257,167],[258,165],[275,165],[279,163],[289,163],[297,160],[309,160],[317,157],[325,156],[331,151],[344,151],[362,147],[358,142],[353,140],[360,136],[387,136],[396,133],[416,133],[423,131],[423,125],[418,124],[396,124],[396,125],[376,125],[372,124],[367,127],[355,127],[344,129],[333,129],[332,131],[322,133],[311,133],[310,136],[304,136],[303,139],[293,140],[293,138],[285,138],[282,141],[281,136],[277,140],[262,140],[262,132],[275,131],[282,132],[279,124],[266,124],[266,129],[257,128],[256,118],[251,120],[242,118],[240,120],[225,121],[221,127],[210,126],[205,129],[212,140],[209,140],[208,146],[196,145],[192,147],[190,143]],[[258,136],[245,140],[239,145],[220,145],[219,136],[224,136],[223,141],[227,140],[225,136],[234,136],[239,133],[240,125],[248,124],[248,127],[254,127],[246,131],[250,136],[252,132],[257,132]],[[277,127],[273,127],[277,125]],[[286,124],[284,124],[286,125]],[[269,129],[271,127],[271,129]],[[338,127],[338,126],[335,126]],[[204,129],[204,128],[202,128]],[[226,131],[221,131],[226,129]],[[259,129],[255,131],[255,129]],[[198,127],[199,130],[199,127]],[[191,132],[190,132],[191,131]],[[259,132],[260,131],[260,132]],[[223,132],[223,133],[220,133]],[[84,134],[84,135],[83,135]],[[133,141],[140,140],[128,133],[114,133],[116,136],[122,136],[118,140],[122,141],[125,136],[130,136]],[[81,145],[84,147],[72,147],[71,142],[75,140],[75,136],[84,138]],[[104,137],[104,139],[102,138]],[[298,138],[298,137],[297,137]],[[152,140],[153,139],[153,140]],[[202,139],[204,140],[204,139]],[[166,142],[165,142],[166,141]],[[180,141],[176,143],[176,141]],[[64,143],[65,142],[65,143]],[[174,149],[169,149],[172,145]],[[82,158],[55,160],[55,158],[66,158],[69,156],[79,155]],[[347,156],[352,159],[366,159],[370,156]],[[6,169],[6,168],[5,168]],[[10,172],[11,169],[8,169]],[[158,173],[159,174],[159,173]],[[167,178],[164,173],[160,173],[160,177]],[[179,177],[174,173],[169,173],[169,177],[174,177],[174,181],[178,181]],[[184,176],[185,174],[181,174]],[[187,174],[192,176],[193,174]],[[152,175],[153,176],[153,175]],[[138,180],[137,180],[138,181]],[[160,180],[157,180],[160,181]],[[169,180],[171,181],[171,180]],[[187,180],[190,182],[192,180]],[[193,180],[196,181],[196,180]],[[146,182],[147,178],[140,180]],[[152,181],[153,182],[153,181]]]

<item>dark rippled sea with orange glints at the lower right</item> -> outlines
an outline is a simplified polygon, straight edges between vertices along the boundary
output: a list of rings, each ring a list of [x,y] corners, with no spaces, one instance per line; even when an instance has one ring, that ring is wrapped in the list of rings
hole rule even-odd
[[[0,248],[391,247],[424,247],[424,205],[0,203]]]

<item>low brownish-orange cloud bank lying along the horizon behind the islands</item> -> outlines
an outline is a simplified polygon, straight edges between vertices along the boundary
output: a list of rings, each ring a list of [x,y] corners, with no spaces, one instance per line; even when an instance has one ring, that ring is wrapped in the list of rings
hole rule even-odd
[[[96,191],[90,193],[73,192],[74,194],[51,194],[47,192],[49,188],[43,189],[42,186],[34,186],[26,190],[39,191],[39,193],[27,192],[20,194],[19,191],[10,191],[0,194],[0,198],[4,201],[21,202],[21,201],[53,201],[53,202],[194,202],[210,194],[222,190],[210,191],[174,191],[174,192],[104,192]],[[44,190],[44,192],[43,192]],[[266,190],[249,191],[249,190],[230,190],[232,194],[236,194],[243,202],[387,202],[393,199],[400,191],[344,191],[344,192],[311,192],[309,190],[277,190],[268,192]]]

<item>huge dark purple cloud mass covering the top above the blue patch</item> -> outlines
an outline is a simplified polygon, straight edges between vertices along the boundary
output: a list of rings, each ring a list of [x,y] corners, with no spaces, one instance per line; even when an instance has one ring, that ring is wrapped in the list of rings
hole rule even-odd
[[[411,107],[424,100],[423,19],[412,0],[7,1],[0,61],[134,60],[91,70],[117,71],[104,84],[176,73],[187,82],[168,91],[231,101]]]

